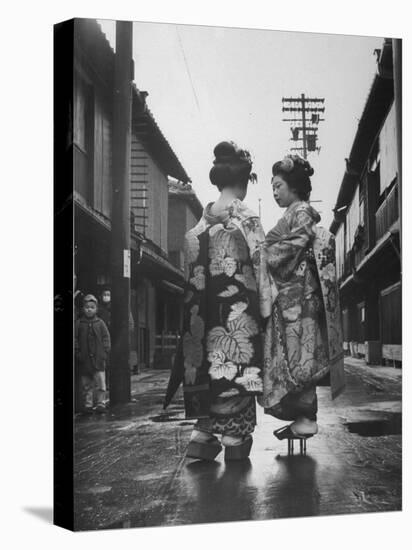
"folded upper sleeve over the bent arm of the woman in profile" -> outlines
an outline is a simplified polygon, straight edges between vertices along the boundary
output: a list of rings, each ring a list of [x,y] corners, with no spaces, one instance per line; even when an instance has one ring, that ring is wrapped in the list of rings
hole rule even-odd
[[[276,276],[287,278],[303,259],[303,255],[316,235],[316,223],[310,207],[301,206],[294,213],[290,231],[283,236],[271,238],[276,228],[267,235],[265,252],[269,270]]]

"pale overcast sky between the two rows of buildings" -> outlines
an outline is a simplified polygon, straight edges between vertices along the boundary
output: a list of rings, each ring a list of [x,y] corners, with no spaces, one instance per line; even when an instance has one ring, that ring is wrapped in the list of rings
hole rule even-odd
[[[99,21],[114,46],[115,24]],[[282,97],[325,98],[311,200],[329,227],[355,137],[376,72],[374,50],[383,38],[160,23],[133,25],[135,82],[203,205],[218,191],[210,184],[213,148],[223,140],[250,151],[258,183],[247,205],[265,231],[282,210],[270,185],[272,165],[289,148]]]

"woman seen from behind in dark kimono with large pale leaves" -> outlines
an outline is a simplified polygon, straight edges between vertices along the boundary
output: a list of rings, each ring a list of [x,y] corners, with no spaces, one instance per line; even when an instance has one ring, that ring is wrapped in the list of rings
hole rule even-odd
[[[232,142],[214,154],[210,180],[220,196],[186,235],[182,345],[168,394],[183,379],[186,418],[198,419],[187,456],[213,460],[223,445],[231,460],[251,449],[255,396],[263,389],[261,320],[272,302],[269,277],[260,271],[265,236],[242,202],[256,178],[250,155]]]

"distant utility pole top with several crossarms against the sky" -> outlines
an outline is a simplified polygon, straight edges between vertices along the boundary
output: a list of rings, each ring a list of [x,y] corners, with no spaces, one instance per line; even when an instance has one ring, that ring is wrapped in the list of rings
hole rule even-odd
[[[320,118],[320,113],[325,112],[324,102],[324,98],[306,97],[305,94],[301,94],[300,97],[282,98],[282,112],[291,113],[291,118],[282,119],[283,122],[290,123],[291,141],[302,142],[300,146],[291,147],[291,151],[299,151],[305,159],[308,153],[320,151],[316,143],[319,122],[325,120]]]

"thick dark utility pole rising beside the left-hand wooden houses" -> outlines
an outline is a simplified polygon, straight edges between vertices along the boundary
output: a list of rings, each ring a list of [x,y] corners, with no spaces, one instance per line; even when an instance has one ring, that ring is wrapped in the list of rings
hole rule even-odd
[[[111,221],[110,403],[130,401],[130,148],[133,23],[116,22]]]

